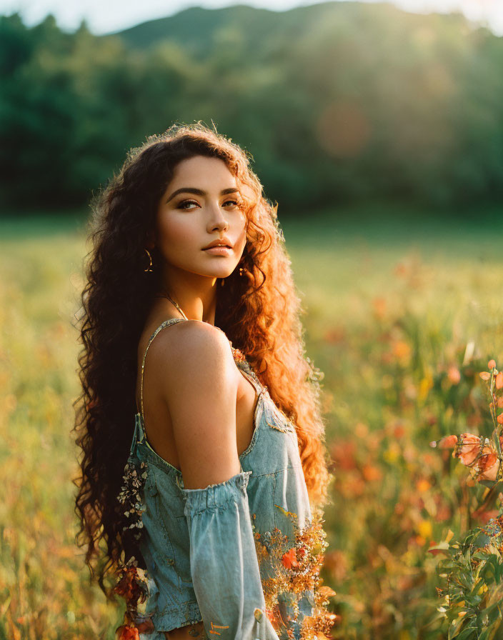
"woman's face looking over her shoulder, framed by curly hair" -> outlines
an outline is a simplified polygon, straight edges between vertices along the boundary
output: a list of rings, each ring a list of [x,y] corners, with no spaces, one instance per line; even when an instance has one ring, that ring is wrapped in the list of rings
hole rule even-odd
[[[166,266],[226,278],[246,244],[239,185],[223,160],[194,156],[179,162],[156,216],[156,245]],[[205,250],[212,241],[229,249]]]

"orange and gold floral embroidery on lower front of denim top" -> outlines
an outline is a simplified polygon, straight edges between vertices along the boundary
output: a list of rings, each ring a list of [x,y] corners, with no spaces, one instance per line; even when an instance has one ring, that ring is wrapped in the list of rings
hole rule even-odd
[[[312,615],[304,616],[300,621],[300,639],[330,638],[330,630],[337,616],[327,611],[327,604],[329,597],[336,592],[329,586],[324,586],[319,576],[324,550],[328,546],[321,514],[318,513],[306,526],[300,528],[297,514],[286,511],[278,504],[275,506],[293,521],[295,541],[292,545],[289,536],[283,535],[278,527],[261,534],[252,524],[259,566],[262,567],[265,562],[274,568],[274,577],[262,579],[266,614],[281,638],[294,639],[293,626],[299,618],[299,601],[307,596],[312,605]],[[253,521],[255,517],[253,514]]]

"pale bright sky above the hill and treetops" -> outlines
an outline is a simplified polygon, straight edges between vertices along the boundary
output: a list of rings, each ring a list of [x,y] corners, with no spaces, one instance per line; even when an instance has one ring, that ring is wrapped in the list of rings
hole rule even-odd
[[[344,0],[337,0],[344,1]],[[382,0],[364,0],[368,2]],[[391,0],[406,11],[429,13],[462,11],[468,19],[489,26],[495,34],[503,36],[503,0]],[[0,15],[19,11],[24,24],[38,24],[47,14],[56,16],[61,29],[74,31],[82,19],[94,34],[120,31],[146,20],[164,18],[189,6],[216,9],[234,4],[247,4],[283,11],[294,6],[317,4],[317,0],[0,0]]]

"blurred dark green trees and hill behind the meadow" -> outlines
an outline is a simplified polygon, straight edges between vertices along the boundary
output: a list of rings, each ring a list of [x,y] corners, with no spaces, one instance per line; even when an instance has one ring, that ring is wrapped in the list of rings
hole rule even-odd
[[[191,8],[119,34],[0,16],[4,209],[85,205],[126,151],[214,121],[292,213],[503,194],[503,38],[461,14]]]

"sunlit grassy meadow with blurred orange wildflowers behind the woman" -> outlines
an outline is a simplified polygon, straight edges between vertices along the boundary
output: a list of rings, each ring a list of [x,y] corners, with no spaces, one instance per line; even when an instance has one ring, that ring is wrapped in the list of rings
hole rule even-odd
[[[471,219],[382,206],[282,221],[324,372],[337,638],[447,637],[428,548],[478,523],[482,487],[468,496],[429,441],[489,436],[477,372],[503,361],[503,223]],[[0,221],[0,640],[111,640],[121,620],[74,546],[81,220]]]

